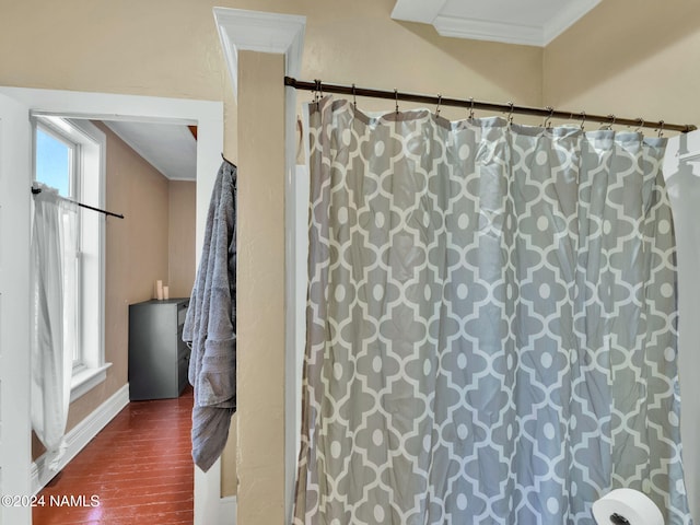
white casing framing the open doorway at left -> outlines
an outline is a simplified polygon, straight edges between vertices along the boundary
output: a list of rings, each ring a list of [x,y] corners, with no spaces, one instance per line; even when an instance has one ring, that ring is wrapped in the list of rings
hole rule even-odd
[[[197,266],[209,199],[223,151],[222,102],[0,86],[0,495],[25,499],[32,494],[30,113],[95,120],[196,125]],[[200,475],[195,471],[195,525],[208,525],[215,523],[209,520],[207,512],[219,512],[220,492],[205,486]],[[0,525],[28,525],[31,521],[31,509],[0,505]]]

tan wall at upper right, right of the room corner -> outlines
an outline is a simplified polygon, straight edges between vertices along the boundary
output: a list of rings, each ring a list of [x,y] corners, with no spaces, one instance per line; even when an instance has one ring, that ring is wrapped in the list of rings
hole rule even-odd
[[[600,2],[545,49],[544,103],[700,125],[699,60],[700,2]]]

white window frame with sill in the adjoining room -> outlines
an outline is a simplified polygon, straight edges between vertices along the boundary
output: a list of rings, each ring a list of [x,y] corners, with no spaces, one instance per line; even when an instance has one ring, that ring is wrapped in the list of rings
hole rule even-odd
[[[34,148],[37,127],[75,144],[72,198],[105,207],[105,133],[86,119],[33,115]],[[35,168],[36,170],[36,168]],[[36,178],[36,173],[34,175]],[[79,358],[73,362],[71,402],[104,382],[112,363],[105,362],[105,215],[80,209]]]

